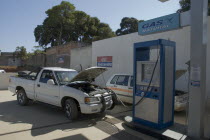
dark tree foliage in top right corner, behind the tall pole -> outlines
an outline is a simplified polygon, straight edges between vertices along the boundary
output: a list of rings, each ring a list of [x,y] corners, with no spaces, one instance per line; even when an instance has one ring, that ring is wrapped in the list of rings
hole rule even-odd
[[[190,0],[180,0],[180,9],[177,10],[178,13],[186,12],[190,10]],[[210,15],[210,0],[208,0],[208,15]]]

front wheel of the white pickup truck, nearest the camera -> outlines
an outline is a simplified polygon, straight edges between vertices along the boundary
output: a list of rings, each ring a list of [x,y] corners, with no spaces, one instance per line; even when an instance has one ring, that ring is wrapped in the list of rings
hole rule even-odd
[[[67,99],[65,102],[65,114],[69,120],[75,120],[79,116],[79,110],[73,99]]]

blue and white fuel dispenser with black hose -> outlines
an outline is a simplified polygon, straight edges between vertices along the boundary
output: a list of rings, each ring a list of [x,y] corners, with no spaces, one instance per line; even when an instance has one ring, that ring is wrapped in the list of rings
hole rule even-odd
[[[175,42],[134,44],[133,122],[156,129],[174,123]]]

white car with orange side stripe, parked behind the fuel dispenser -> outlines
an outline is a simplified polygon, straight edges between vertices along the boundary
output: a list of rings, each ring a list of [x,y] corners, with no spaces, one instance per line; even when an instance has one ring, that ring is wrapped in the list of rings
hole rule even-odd
[[[130,74],[114,74],[106,83],[107,88],[113,90],[119,99],[126,103],[133,103],[133,76]],[[175,111],[185,110],[189,95],[186,92],[175,91]]]

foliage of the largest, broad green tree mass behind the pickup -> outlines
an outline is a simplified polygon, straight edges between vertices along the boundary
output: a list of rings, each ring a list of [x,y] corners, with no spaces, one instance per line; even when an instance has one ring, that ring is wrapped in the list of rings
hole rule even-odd
[[[43,24],[34,30],[35,40],[40,46],[55,46],[70,41],[92,42],[114,36],[108,24],[75,10],[74,5],[66,1],[47,10],[46,14]]]

